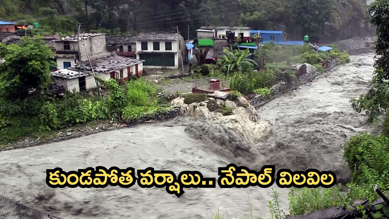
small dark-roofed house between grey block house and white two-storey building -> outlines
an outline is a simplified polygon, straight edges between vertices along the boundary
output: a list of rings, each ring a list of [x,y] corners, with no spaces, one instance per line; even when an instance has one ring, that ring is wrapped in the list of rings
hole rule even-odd
[[[105,36],[107,46],[116,46],[116,54],[128,58],[136,58],[137,42],[131,36]]]

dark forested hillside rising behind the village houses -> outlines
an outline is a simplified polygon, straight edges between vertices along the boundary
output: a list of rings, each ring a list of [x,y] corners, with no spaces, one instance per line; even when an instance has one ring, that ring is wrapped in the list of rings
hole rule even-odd
[[[178,26],[185,38],[206,25],[284,30],[316,42],[369,35],[364,0],[0,0],[0,19],[39,21],[47,32],[132,32]],[[30,17],[31,16],[31,17]],[[38,19],[39,18],[39,19]],[[106,30],[104,30],[106,29]],[[120,30],[119,30],[120,29]]]

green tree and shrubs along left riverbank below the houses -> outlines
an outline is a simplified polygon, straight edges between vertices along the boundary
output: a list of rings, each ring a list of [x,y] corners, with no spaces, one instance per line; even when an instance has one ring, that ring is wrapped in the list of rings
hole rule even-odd
[[[109,94],[81,95],[67,92],[57,97],[51,84],[53,53],[44,41],[24,37],[20,44],[0,44],[0,145],[25,137],[52,138],[53,131],[96,120],[135,121],[166,111],[156,87],[145,79],[123,86],[103,82]]]

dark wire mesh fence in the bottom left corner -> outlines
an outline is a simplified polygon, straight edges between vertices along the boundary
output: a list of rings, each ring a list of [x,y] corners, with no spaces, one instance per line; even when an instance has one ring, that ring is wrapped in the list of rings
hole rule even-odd
[[[62,219],[0,195],[0,219]]]

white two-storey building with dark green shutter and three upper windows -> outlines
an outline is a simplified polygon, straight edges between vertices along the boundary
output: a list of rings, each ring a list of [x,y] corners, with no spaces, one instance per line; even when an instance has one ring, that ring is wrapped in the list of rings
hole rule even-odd
[[[136,43],[137,59],[144,60],[143,68],[178,69],[186,54],[184,37],[177,32],[142,32]]]

